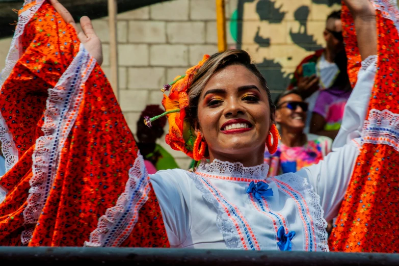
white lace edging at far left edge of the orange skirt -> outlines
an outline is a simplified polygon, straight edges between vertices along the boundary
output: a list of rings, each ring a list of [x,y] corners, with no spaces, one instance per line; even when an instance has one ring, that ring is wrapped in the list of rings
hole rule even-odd
[[[35,0],[25,0],[25,4],[30,4]],[[6,66],[0,73],[0,88],[3,88],[4,82],[10,76],[15,64],[22,55],[20,37],[23,34],[25,25],[31,20],[33,15],[39,10],[44,0],[36,0],[36,5],[21,12],[18,16],[18,23],[15,29],[14,37],[11,41],[10,50],[6,58]],[[18,162],[18,150],[15,146],[12,134],[7,126],[6,120],[0,111],[0,141],[2,142],[2,152],[6,160],[6,173]]]

